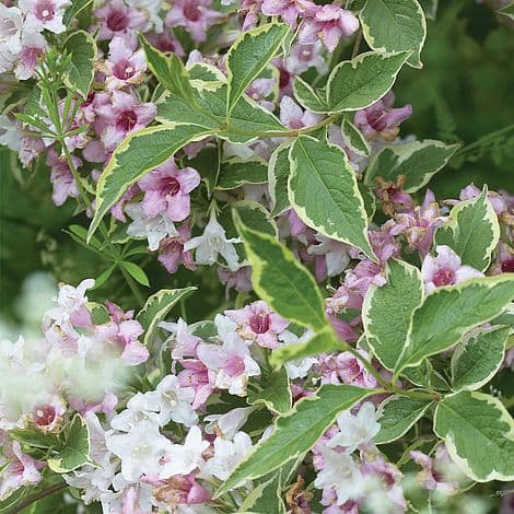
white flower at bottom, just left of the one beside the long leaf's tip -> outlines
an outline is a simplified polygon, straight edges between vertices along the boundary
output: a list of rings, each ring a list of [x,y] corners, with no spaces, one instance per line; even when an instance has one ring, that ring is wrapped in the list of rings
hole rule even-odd
[[[202,453],[209,447],[209,443],[201,437],[200,429],[191,427],[184,444],[173,444],[166,457],[170,459],[164,464],[159,478],[170,478],[175,475],[188,475],[203,466]]]

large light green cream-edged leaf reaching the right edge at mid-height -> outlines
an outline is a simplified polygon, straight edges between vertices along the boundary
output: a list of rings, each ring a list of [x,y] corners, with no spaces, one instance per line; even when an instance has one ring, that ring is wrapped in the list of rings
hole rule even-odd
[[[514,273],[436,289],[414,312],[397,371],[453,347],[466,331],[498,316],[513,297]]]

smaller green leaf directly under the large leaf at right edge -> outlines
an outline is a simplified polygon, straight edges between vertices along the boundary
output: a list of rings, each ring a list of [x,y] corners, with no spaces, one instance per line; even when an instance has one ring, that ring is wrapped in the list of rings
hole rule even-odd
[[[452,388],[479,389],[500,370],[510,327],[482,328],[452,355]]]

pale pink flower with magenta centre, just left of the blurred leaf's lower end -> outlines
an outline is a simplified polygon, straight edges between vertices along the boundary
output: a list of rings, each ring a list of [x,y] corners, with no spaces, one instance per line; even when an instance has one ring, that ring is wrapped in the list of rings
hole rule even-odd
[[[289,322],[274,314],[261,300],[241,309],[225,311],[225,315],[237,323],[237,330],[244,339],[254,340],[264,348],[277,348],[277,336],[289,325]]]

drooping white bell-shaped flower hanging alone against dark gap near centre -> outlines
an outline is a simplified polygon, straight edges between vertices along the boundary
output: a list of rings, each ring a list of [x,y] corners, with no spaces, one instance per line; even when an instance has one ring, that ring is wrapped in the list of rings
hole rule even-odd
[[[217,262],[220,254],[226,261],[231,271],[240,269],[238,257],[234,244],[241,243],[240,238],[227,240],[225,230],[215,218],[214,210],[211,212],[209,223],[203,230],[203,234],[192,237],[184,245],[184,250],[189,252],[196,248],[195,261],[198,265],[212,266]]]

